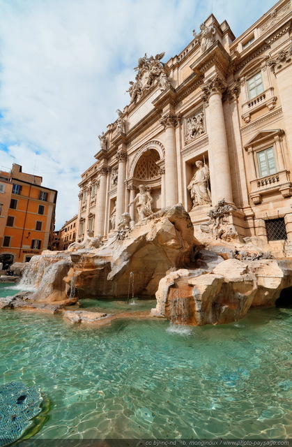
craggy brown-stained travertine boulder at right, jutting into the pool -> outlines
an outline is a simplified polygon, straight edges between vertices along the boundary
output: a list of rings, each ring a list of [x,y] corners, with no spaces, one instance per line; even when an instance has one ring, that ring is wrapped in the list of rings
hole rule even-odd
[[[170,272],[160,281],[151,314],[190,325],[229,323],[243,318],[249,307],[275,305],[280,292],[291,286],[291,259],[227,259],[210,273]]]

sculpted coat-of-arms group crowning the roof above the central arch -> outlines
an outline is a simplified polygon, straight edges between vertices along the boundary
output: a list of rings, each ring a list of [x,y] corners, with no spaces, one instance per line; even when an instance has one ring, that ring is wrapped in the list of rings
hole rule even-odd
[[[164,52],[156,54],[155,57],[148,57],[145,53],[144,57],[138,60],[138,66],[134,68],[137,71],[135,82],[130,81],[130,88],[127,90],[130,93],[130,103],[137,103],[141,96],[158,81],[160,90],[165,90],[169,87],[169,78],[167,65],[161,59],[164,57]]]

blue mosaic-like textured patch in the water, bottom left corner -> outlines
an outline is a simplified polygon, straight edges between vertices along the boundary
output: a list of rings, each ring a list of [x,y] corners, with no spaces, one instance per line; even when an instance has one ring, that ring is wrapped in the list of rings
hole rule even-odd
[[[0,447],[17,441],[40,413],[43,397],[36,386],[11,382],[0,386]]]

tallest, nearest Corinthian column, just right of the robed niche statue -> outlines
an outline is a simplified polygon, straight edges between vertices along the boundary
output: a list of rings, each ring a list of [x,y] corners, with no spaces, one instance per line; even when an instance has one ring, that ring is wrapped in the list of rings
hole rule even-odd
[[[222,92],[225,89],[224,82],[216,75],[208,79],[203,87],[203,99],[209,104],[210,117],[210,158],[211,173],[214,173],[215,191],[212,190],[213,205],[219,200],[225,199],[232,203],[231,173],[229,166],[229,154],[222,106]]]

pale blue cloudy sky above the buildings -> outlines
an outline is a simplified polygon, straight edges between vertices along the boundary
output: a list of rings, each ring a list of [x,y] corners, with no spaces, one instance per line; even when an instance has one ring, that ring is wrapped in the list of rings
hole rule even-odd
[[[59,191],[56,229],[78,211],[98,135],[129,103],[137,59],[192,41],[213,13],[236,35],[275,1],[0,0],[0,168],[19,163]],[[36,156],[36,153],[38,154]]]

